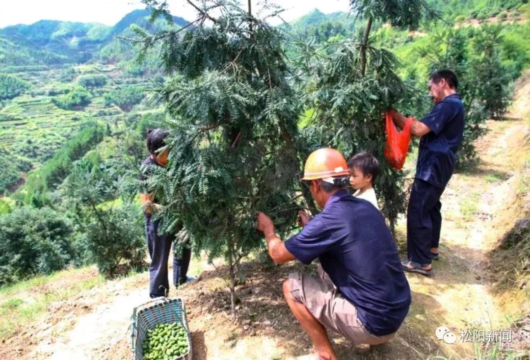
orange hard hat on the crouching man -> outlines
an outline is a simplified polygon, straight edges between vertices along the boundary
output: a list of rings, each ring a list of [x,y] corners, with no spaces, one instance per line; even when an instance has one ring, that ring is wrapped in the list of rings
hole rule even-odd
[[[322,148],[313,151],[305,161],[302,180],[323,179],[333,183],[330,177],[345,175],[349,175],[349,172],[342,154],[332,148]]]

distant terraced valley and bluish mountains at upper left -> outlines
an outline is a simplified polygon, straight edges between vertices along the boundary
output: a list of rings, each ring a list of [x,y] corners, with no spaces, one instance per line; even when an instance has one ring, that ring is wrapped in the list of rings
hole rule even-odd
[[[127,116],[142,116],[131,112],[140,100],[144,105],[138,105],[138,111],[153,109],[145,95],[121,108],[108,100],[120,89],[144,89],[153,79],[162,79],[154,53],[138,65],[134,47],[119,38],[132,37],[133,24],[153,32],[169,29],[163,19],[149,23],[149,16],[147,10],[136,10],[114,26],[43,20],[0,29],[0,64],[6,65],[2,73],[29,84],[28,90],[15,98],[3,98],[0,90],[0,152],[19,164],[8,166],[0,176],[0,193],[14,191],[29,170],[49,160],[87,121],[117,130]],[[187,24],[177,16],[173,21],[175,28]],[[89,82],[96,78],[101,84]],[[61,109],[58,99],[74,94],[79,86],[85,88],[89,104]]]

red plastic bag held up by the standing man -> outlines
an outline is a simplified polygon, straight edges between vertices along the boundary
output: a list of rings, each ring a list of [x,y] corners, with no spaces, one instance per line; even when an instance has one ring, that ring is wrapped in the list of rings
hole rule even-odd
[[[404,128],[398,131],[392,120],[392,114],[390,112],[385,113],[385,158],[388,164],[397,170],[401,170],[407,159],[412,121],[412,118],[407,118]]]

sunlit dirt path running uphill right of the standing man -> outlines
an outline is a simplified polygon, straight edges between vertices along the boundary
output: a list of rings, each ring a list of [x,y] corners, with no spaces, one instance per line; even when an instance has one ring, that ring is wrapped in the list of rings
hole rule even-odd
[[[507,329],[505,310],[490,291],[493,280],[488,253],[513,226],[518,181],[518,159],[511,149],[528,133],[524,120],[488,121],[489,133],[477,150],[481,163],[474,172],[455,174],[441,202],[443,223],[440,260],[434,262],[432,278],[409,275],[414,311],[426,312],[438,326],[457,335],[454,345],[443,344],[448,354],[474,355],[473,344],[462,344],[462,330]],[[516,140],[516,141],[514,141]],[[428,295],[428,297],[426,297]],[[410,316],[409,316],[410,318]]]

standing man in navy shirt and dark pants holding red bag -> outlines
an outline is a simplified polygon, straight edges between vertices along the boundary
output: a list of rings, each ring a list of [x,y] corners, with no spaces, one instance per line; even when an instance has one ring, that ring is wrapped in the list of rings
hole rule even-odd
[[[416,176],[407,209],[408,261],[406,271],[432,274],[432,259],[438,259],[441,229],[440,197],[453,175],[456,152],[464,133],[464,105],[456,93],[458,80],[451,70],[438,70],[429,77],[434,108],[411,132],[420,137]],[[393,119],[403,128],[404,116],[392,110]]]

